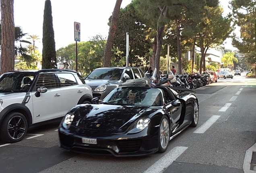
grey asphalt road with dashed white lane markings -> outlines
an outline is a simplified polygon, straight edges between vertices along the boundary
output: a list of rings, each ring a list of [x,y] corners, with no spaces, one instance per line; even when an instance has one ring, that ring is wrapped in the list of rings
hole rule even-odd
[[[244,173],[256,142],[256,79],[234,76],[195,89],[199,123],[171,140],[165,153],[114,157],[66,152],[58,124],[28,132],[14,144],[0,141],[0,173]]]

